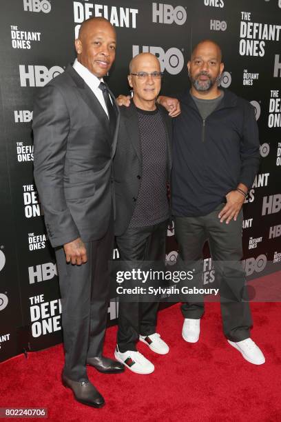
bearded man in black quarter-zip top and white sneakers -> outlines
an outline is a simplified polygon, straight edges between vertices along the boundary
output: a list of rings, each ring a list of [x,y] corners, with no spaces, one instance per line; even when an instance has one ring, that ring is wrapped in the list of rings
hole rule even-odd
[[[220,280],[225,336],[244,359],[260,365],[264,356],[250,338],[251,313],[249,303],[242,301],[245,277],[240,265],[242,205],[259,166],[258,125],[248,101],[218,88],[224,65],[216,43],[200,42],[187,67],[191,90],[179,98],[171,174],[180,259],[202,264],[208,239]],[[196,343],[204,303],[184,303],[182,312],[183,339]]]

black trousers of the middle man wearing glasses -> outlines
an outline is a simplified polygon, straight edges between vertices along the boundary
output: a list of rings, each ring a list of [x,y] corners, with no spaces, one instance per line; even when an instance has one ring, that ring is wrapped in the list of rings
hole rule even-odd
[[[116,237],[121,261],[165,262],[167,221],[145,228],[128,228]],[[157,302],[119,302],[117,344],[120,352],[136,350],[139,335],[156,332]]]

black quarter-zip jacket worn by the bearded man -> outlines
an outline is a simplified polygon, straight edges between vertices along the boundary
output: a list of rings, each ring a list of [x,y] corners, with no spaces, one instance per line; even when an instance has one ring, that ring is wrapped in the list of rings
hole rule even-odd
[[[238,183],[251,188],[260,163],[253,106],[229,90],[202,120],[189,90],[174,119],[172,210],[178,217],[209,214]]]

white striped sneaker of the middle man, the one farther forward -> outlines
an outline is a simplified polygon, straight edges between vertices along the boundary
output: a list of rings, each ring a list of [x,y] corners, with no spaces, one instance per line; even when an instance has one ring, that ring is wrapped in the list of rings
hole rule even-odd
[[[127,350],[127,352],[121,353],[118,347],[116,347],[114,356],[117,361],[123,363],[129,370],[136,372],[136,374],[151,374],[154,371],[154,364],[149,362],[140,352]]]

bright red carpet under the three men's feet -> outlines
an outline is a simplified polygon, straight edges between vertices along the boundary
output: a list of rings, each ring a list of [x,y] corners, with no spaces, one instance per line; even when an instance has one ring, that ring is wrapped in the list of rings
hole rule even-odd
[[[251,309],[252,338],[266,356],[264,365],[247,363],[227,344],[218,303],[207,303],[202,334],[194,345],[181,338],[183,319],[179,305],[174,305],[158,316],[158,331],[170,345],[169,354],[156,355],[139,344],[155,364],[153,374],[126,370],[105,375],[89,368],[90,379],[105,396],[104,408],[76,403],[72,392],[63,388],[61,345],[0,365],[0,407],[45,407],[48,420],[63,422],[281,421],[281,303],[252,303]],[[115,341],[113,327],[107,330],[107,356],[113,356]]]

